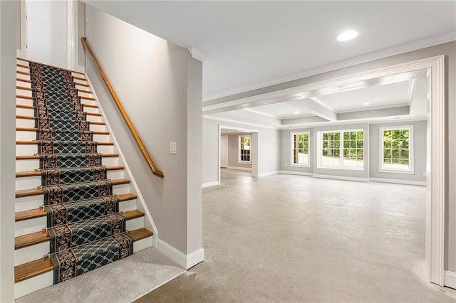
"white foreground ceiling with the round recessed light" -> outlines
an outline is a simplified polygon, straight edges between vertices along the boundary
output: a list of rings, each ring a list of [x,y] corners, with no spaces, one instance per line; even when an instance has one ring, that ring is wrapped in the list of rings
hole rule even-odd
[[[204,100],[300,78],[324,65],[385,48],[456,38],[456,1],[86,3],[204,53]],[[347,28],[358,30],[359,36],[336,41]]]

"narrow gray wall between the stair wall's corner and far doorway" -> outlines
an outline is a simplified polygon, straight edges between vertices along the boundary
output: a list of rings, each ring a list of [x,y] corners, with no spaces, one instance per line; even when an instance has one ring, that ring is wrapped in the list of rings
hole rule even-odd
[[[219,126],[202,122],[202,183],[216,182],[219,179]]]

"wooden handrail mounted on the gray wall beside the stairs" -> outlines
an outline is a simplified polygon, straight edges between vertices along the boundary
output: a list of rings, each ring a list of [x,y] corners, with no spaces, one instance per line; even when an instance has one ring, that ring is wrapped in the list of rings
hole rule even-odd
[[[111,86],[108,78],[106,77],[105,73],[103,72],[103,69],[101,68],[100,63],[98,63],[97,58],[95,58],[95,55],[93,54],[92,49],[88,45],[86,37],[82,37],[81,41],[83,43],[84,50],[86,50],[88,52],[88,54],[90,55],[90,57],[93,60],[93,63],[95,63],[95,66],[98,68],[98,72],[100,73],[101,78],[103,78],[103,81],[105,82],[106,87],[108,87],[108,90],[109,90],[111,96],[113,97],[115,105],[117,105],[118,109],[120,110],[120,114],[122,115],[123,119],[125,120],[125,123],[127,124],[128,128],[130,129],[131,134],[133,134],[133,137],[135,138],[135,141],[138,144],[138,147],[140,148],[140,150],[142,152],[142,156],[144,156],[145,161],[147,161],[147,164],[149,164],[149,167],[152,170],[152,174],[154,174],[155,176],[159,176],[160,178],[163,178],[165,176],[165,174],[163,174],[162,171],[158,170],[157,166],[155,166],[155,163],[152,160],[152,158],[150,157],[149,152],[147,151],[144,144],[142,143],[140,135],[138,134],[138,132],[136,132],[136,129],[133,126],[132,122],[130,121],[130,118],[128,117],[127,112],[125,112],[125,110],[123,109],[122,103],[120,103],[118,96],[115,94],[113,87]]]

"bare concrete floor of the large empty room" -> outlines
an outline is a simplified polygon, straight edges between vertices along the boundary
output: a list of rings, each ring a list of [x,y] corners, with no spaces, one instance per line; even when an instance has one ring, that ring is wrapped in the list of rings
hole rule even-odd
[[[222,171],[204,262],[136,302],[455,302],[426,281],[425,187]]]

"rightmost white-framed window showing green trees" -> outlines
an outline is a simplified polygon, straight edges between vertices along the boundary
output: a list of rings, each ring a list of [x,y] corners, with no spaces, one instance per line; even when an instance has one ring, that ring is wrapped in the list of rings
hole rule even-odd
[[[413,126],[380,127],[380,171],[413,174]]]

